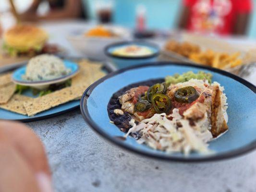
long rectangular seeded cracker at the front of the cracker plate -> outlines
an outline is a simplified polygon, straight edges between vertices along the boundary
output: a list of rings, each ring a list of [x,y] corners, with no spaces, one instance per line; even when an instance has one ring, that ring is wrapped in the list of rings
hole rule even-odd
[[[28,116],[33,116],[49,108],[80,98],[83,92],[84,88],[81,86],[66,87],[31,101],[25,101],[24,108]]]

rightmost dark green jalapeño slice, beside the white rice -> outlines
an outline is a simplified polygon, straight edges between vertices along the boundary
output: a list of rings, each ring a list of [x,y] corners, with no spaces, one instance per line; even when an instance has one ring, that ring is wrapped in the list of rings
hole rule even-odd
[[[193,86],[182,87],[174,93],[175,101],[179,103],[192,103],[199,97]]]

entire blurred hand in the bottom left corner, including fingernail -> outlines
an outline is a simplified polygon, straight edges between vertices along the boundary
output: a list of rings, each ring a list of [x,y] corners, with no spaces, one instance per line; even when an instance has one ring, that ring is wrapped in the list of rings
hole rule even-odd
[[[44,147],[21,123],[0,121],[0,192],[52,192]]]

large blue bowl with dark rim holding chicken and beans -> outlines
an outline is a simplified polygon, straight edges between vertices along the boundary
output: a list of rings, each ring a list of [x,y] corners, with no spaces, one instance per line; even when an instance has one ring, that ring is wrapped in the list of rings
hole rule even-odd
[[[192,153],[184,156],[181,153],[167,154],[154,150],[146,145],[137,144],[128,137],[121,140],[118,127],[110,123],[107,105],[113,93],[124,86],[137,82],[164,78],[174,73],[187,71],[205,71],[213,75],[213,81],[219,82],[225,88],[228,97],[229,131],[218,139],[210,142],[209,148],[213,155]],[[218,69],[170,62],[157,62],[134,66],[111,73],[98,80],[86,89],[82,96],[80,107],[85,121],[100,135],[111,142],[146,156],[176,161],[208,161],[230,158],[242,155],[256,148],[256,87],[245,80]]]

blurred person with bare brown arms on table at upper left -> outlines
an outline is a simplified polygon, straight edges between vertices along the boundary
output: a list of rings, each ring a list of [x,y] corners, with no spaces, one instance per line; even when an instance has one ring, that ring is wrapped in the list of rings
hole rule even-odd
[[[42,2],[49,3],[49,12],[38,15],[37,9]],[[82,0],[33,0],[31,6],[19,17],[21,21],[87,19],[84,4]]]

